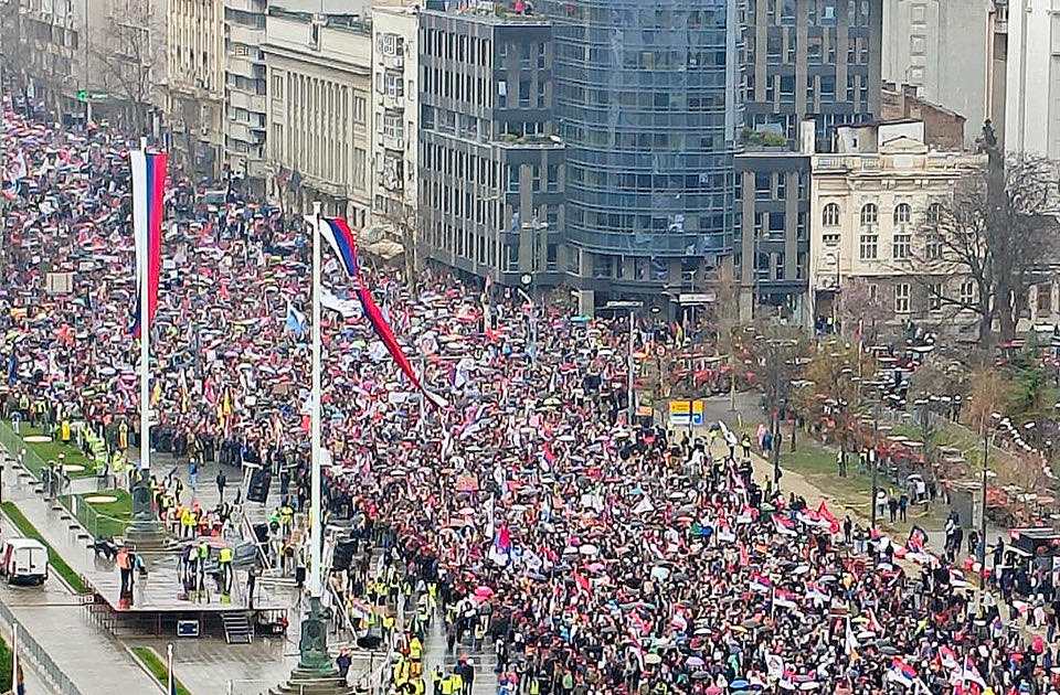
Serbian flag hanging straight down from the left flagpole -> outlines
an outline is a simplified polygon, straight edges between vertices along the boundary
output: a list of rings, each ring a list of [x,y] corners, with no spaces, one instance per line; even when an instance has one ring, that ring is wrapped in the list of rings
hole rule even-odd
[[[140,334],[142,303],[147,301],[147,325],[158,309],[158,279],[162,269],[162,217],[166,193],[166,152],[131,150],[132,235],[136,238],[136,308],[134,336]]]

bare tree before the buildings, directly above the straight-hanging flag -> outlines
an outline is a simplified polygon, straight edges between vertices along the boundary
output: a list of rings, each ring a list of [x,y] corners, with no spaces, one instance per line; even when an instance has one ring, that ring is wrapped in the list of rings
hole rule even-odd
[[[127,106],[134,132],[147,133],[151,98],[160,86],[156,72],[165,62],[165,52],[152,45],[156,10],[144,0],[115,0],[112,25],[102,45],[91,49],[100,66],[100,78],[107,92],[117,95]]]

